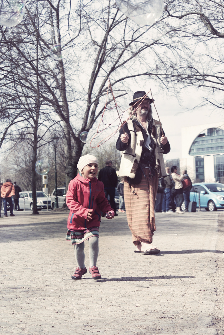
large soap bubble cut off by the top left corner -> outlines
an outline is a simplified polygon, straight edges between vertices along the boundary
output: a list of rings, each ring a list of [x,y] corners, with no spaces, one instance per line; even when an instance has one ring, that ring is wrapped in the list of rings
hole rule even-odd
[[[22,21],[25,12],[25,0],[0,1],[0,24],[14,27]]]

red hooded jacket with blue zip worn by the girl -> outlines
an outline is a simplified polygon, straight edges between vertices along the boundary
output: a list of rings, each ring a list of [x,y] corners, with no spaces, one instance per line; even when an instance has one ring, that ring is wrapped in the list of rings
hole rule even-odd
[[[108,204],[103,189],[103,183],[98,181],[96,177],[84,179],[77,175],[70,181],[66,194],[66,204],[70,209],[68,229],[80,230],[99,227],[100,211],[105,214],[113,210]],[[89,209],[93,209],[92,219],[87,221]]]

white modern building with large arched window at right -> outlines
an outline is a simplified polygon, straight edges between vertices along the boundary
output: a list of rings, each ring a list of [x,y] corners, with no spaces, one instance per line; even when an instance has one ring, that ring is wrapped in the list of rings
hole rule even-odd
[[[224,121],[184,127],[181,169],[195,182],[224,183]]]

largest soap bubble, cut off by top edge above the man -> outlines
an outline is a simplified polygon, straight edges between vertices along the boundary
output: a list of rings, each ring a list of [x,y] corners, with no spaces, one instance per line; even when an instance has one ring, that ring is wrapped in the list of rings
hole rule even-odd
[[[163,0],[116,0],[118,8],[140,25],[151,25],[163,12]]]

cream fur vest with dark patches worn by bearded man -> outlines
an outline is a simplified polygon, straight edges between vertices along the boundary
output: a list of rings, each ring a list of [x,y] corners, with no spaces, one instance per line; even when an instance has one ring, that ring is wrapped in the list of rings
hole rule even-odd
[[[131,142],[127,149],[122,153],[119,176],[134,178],[139,167],[142,147],[144,144],[144,137],[142,133],[143,129],[136,123],[134,129],[132,120],[128,120],[127,124],[128,129],[131,133]],[[151,137],[155,142],[155,170],[157,172],[158,178],[166,176],[166,170],[162,154],[163,150],[160,144],[160,131],[160,122],[153,119]]]

